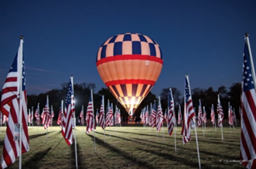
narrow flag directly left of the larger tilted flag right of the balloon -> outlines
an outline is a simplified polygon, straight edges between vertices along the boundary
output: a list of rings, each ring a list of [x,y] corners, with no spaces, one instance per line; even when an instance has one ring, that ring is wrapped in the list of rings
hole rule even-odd
[[[169,135],[172,135],[173,131],[173,112],[174,112],[174,100],[172,97],[172,89],[169,88],[169,93],[168,93],[168,133]]]

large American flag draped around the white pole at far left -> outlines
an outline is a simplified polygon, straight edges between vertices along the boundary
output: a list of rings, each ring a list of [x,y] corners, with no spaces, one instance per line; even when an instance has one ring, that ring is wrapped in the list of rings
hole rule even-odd
[[[1,168],[6,168],[13,164],[16,158],[20,155],[19,148],[22,149],[22,153],[29,151],[23,39],[20,40],[19,50],[5,79],[2,89],[0,110],[6,117],[8,117],[1,160]],[[20,114],[22,114],[22,121],[19,119]],[[21,123],[22,147],[20,147],[19,144],[20,134],[15,131],[17,124],[20,125]]]

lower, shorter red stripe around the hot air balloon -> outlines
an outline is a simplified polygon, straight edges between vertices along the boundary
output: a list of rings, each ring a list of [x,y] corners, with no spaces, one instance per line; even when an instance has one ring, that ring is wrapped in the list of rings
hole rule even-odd
[[[155,81],[146,79],[123,79],[123,80],[112,80],[105,83],[107,87],[117,84],[150,84],[154,85]]]

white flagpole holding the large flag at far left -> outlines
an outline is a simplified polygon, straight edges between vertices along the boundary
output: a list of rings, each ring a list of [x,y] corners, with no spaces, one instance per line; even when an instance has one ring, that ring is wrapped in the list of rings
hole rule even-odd
[[[19,53],[18,53],[18,98],[20,99],[19,102],[19,106],[20,106],[20,112],[19,112],[19,122],[20,122],[20,130],[19,130],[19,139],[20,139],[20,148],[19,148],[19,169],[21,169],[21,163],[22,163],[22,158],[21,158],[21,150],[22,150],[22,128],[23,128],[23,124],[22,124],[22,95],[21,95],[21,91],[22,91],[22,62],[23,62],[23,36],[20,36],[20,48],[19,48]],[[26,112],[25,112],[26,113]]]

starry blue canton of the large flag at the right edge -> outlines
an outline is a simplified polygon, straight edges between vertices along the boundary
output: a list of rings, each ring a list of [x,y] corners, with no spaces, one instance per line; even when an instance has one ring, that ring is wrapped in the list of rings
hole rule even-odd
[[[251,59],[249,55],[249,49],[247,41],[244,41],[244,53],[243,53],[243,91],[254,89]]]

